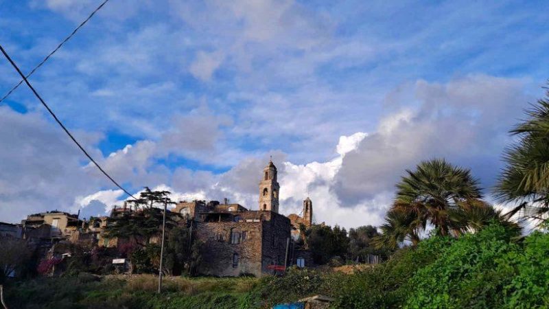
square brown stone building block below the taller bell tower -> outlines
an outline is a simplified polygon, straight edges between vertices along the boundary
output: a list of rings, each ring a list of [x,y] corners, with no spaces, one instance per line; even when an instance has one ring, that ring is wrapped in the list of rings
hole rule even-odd
[[[272,273],[283,265],[290,220],[273,211],[204,213],[196,236],[203,242],[203,275],[238,276]],[[288,253],[289,255],[289,253]],[[290,261],[288,261],[290,263]]]

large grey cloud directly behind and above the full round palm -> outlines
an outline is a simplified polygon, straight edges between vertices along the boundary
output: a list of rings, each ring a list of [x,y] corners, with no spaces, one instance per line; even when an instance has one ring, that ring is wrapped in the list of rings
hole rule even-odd
[[[471,167],[489,189],[500,168],[506,132],[531,99],[521,80],[482,75],[447,84],[419,80],[408,92],[417,108],[401,106],[384,117],[377,131],[343,158],[334,185],[342,206],[393,191],[404,170],[434,157]]]

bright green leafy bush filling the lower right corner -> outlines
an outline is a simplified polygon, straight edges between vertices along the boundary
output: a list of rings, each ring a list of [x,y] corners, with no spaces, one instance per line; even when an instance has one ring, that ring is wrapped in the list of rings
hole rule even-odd
[[[548,308],[549,236],[513,236],[493,224],[459,238],[410,279],[406,307]]]

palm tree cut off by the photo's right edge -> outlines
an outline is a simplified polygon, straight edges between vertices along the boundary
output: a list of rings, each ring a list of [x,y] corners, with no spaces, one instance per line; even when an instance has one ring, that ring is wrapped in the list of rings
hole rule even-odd
[[[518,203],[508,217],[519,220],[549,218],[549,91],[525,113],[524,120],[510,131],[518,141],[504,152],[505,168],[495,187],[502,203]]]

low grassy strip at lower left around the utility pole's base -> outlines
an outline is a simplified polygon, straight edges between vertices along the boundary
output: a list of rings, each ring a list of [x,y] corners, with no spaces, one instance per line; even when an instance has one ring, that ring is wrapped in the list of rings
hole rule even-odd
[[[6,287],[9,308],[248,308],[242,305],[259,279],[252,277],[167,277],[156,294],[153,275],[107,276],[81,274],[69,278],[39,278]]]

